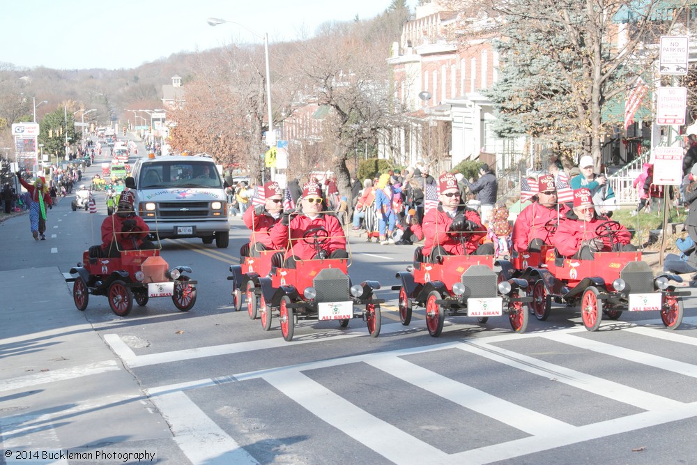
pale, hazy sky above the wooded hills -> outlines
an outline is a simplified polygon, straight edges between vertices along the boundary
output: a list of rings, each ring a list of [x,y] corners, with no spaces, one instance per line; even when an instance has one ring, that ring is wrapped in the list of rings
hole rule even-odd
[[[269,43],[327,21],[367,20],[391,0],[0,0],[0,63],[17,68],[129,69],[177,52]],[[413,11],[417,0],[407,0]],[[209,26],[208,17],[243,24]],[[256,36],[255,36],[256,34]],[[395,38],[397,40],[397,38]]]

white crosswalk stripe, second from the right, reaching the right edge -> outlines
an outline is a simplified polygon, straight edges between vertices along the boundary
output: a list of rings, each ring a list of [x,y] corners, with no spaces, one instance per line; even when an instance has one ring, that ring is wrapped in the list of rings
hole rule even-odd
[[[671,358],[654,356],[651,353],[625,349],[624,347],[615,346],[613,344],[606,344],[605,342],[593,341],[569,334],[546,334],[542,335],[542,337],[552,341],[561,342],[562,344],[579,347],[579,349],[604,353],[605,355],[622,358],[629,362],[641,363],[641,365],[647,365],[649,367],[664,369],[668,372],[684,374],[685,376],[697,378],[697,366],[691,365],[690,363],[679,362]]]

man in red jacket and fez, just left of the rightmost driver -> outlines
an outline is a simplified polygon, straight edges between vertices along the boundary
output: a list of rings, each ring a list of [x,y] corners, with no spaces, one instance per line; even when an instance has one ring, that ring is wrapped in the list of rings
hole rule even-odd
[[[539,252],[543,244],[551,244],[557,224],[571,210],[557,203],[554,176],[539,176],[537,186],[533,203],[523,208],[513,226],[513,248],[518,252]]]

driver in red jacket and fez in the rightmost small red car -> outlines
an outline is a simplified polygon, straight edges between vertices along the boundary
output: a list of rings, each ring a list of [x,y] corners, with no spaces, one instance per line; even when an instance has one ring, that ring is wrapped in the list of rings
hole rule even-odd
[[[595,252],[611,252],[613,243],[615,250],[633,252],[630,240],[627,228],[595,213],[590,190],[581,188],[574,190],[574,208],[559,223],[552,243],[564,257],[592,260]]]

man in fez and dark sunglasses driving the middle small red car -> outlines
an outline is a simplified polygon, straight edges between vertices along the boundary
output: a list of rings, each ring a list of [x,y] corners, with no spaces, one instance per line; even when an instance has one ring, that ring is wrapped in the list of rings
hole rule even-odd
[[[476,211],[461,204],[454,174],[446,173],[438,178],[438,192],[441,203],[424,215],[422,224],[424,257],[434,261],[438,255],[493,255],[491,243],[480,245],[487,229]]]

